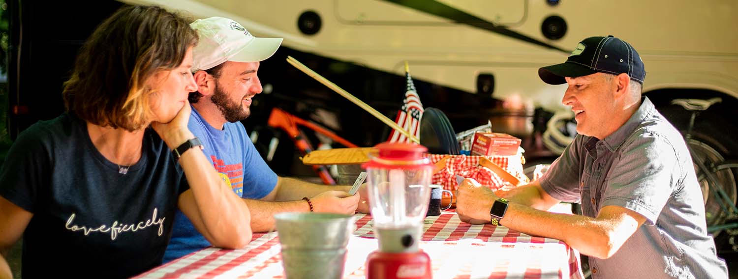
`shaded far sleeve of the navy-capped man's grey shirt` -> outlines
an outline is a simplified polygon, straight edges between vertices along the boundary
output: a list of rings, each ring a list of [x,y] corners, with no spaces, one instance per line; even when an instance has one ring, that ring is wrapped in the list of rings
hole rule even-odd
[[[584,137],[577,135],[538,182],[547,194],[564,202],[579,202],[579,173]]]

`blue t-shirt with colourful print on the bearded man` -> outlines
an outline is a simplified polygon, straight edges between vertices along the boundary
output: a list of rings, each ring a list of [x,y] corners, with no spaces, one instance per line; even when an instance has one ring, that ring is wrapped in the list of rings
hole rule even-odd
[[[238,197],[261,199],[277,186],[277,174],[269,169],[256,151],[244,124],[227,122],[223,130],[218,130],[202,119],[193,107],[187,126],[202,142],[207,159]],[[210,246],[210,242],[195,229],[190,219],[178,210],[164,262]]]

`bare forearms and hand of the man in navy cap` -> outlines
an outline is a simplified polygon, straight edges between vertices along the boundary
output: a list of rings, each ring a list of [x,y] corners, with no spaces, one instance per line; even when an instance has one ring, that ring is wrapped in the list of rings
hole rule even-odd
[[[470,181],[465,181],[460,191],[472,199],[460,200],[464,219],[475,223],[489,220],[489,208],[497,196]],[[544,211],[560,201],[535,182],[497,194],[511,201],[501,225],[529,235],[565,241],[579,252],[597,258],[610,258],[618,252],[646,220],[635,211],[618,206],[605,206],[596,218]]]

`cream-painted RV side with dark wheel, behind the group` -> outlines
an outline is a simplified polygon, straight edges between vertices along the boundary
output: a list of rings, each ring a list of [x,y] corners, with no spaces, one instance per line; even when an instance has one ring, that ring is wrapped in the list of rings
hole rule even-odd
[[[673,99],[720,97],[697,116],[695,158],[706,164],[738,158],[738,1],[573,0],[131,0],[183,10],[196,18],[235,19],[283,47],[459,91],[491,94],[511,110],[561,104],[567,85],[539,80],[541,66],[562,63],[590,36],[615,35],[638,49],[646,66],[643,91],[686,130],[690,112]],[[733,107],[733,109],[731,109]],[[457,131],[459,132],[459,131]],[[721,175],[736,201],[734,173]],[[703,180],[708,225],[726,214]],[[715,234],[719,234],[717,231]]]

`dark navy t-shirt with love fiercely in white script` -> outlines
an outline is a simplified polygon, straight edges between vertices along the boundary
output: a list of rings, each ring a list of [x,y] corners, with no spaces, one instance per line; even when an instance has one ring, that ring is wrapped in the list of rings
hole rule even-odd
[[[66,113],[18,135],[0,170],[0,195],[33,213],[23,241],[28,278],[123,278],[154,268],[188,188],[154,130],[145,131],[138,163],[120,174],[86,122]]]

